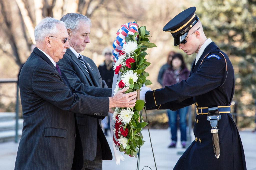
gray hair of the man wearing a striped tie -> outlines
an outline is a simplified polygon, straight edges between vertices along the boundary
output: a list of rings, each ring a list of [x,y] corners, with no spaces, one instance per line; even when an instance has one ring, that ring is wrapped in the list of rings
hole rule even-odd
[[[61,17],[60,20],[65,22],[67,28],[71,29],[71,31],[73,32],[76,32],[79,29],[78,25],[80,22],[83,22],[84,24],[89,24],[90,26],[92,25],[90,18],[78,13],[68,13]]]

